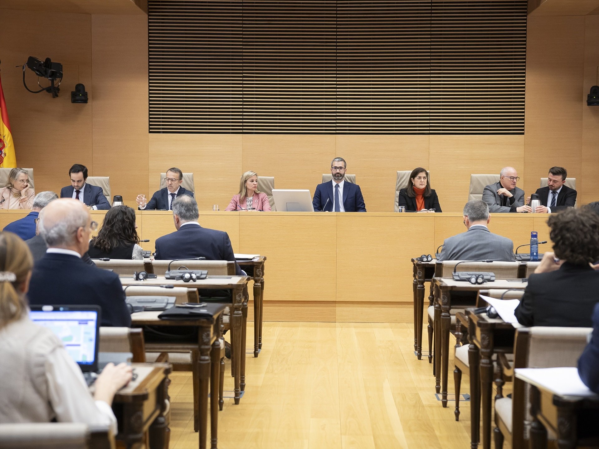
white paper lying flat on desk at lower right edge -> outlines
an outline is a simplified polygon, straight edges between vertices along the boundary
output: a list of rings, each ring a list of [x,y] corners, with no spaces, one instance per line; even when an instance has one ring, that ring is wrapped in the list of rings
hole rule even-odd
[[[516,368],[516,377],[558,396],[599,398],[582,383],[577,368]]]

